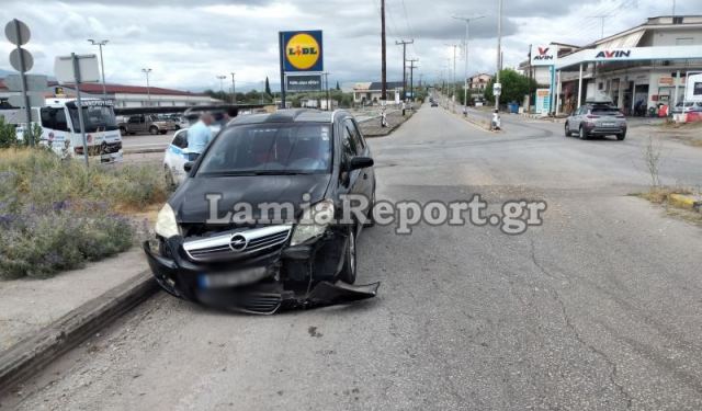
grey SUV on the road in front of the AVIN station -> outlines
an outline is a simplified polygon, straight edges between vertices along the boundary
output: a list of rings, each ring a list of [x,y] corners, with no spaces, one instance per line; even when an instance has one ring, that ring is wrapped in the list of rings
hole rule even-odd
[[[565,124],[566,137],[577,134],[580,139],[590,136],[626,137],[626,118],[618,107],[608,103],[587,103],[568,116]]]

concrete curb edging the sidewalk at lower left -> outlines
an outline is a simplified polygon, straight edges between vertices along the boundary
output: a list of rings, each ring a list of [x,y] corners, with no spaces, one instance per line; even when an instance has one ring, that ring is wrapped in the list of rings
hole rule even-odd
[[[157,289],[151,272],[141,272],[0,353],[0,393],[37,373]]]

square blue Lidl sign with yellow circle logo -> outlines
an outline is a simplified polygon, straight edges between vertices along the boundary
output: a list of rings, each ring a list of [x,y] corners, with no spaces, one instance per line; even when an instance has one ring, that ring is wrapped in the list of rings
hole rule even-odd
[[[324,71],[321,31],[281,32],[283,71]]]

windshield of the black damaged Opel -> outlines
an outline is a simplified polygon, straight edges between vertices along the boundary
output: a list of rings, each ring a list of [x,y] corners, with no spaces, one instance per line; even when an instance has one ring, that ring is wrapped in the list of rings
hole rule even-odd
[[[321,174],[331,167],[327,124],[231,127],[212,142],[197,175]]]

